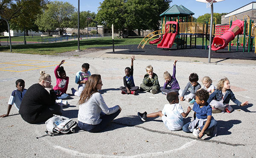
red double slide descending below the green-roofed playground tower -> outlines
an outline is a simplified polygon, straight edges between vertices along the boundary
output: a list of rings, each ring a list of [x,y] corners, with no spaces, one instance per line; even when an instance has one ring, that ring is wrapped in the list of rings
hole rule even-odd
[[[163,35],[163,39],[161,40],[161,42],[159,44],[157,44],[157,48],[171,48],[173,45],[173,42],[175,40],[175,37],[177,35],[177,22],[175,21],[169,21],[166,23],[166,27],[170,24],[176,25],[175,29],[175,33],[172,33],[172,30],[170,29],[170,31],[166,31],[166,33]],[[169,27],[169,26],[168,26]],[[170,27],[169,27],[170,28]],[[167,30],[167,29],[166,29]],[[170,33],[169,33],[170,32]]]

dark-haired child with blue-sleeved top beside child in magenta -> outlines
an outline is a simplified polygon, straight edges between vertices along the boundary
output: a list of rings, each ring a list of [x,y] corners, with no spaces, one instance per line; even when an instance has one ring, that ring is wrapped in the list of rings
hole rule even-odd
[[[76,91],[74,88],[71,88],[73,95],[80,96],[82,91],[84,90],[86,82],[88,78],[91,76],[90,71],[88,71],[89,68],[90,65],[88,63],[84,63],[82,65],[82,70],[76,73],[76,84],[78,84],[78,91]]]

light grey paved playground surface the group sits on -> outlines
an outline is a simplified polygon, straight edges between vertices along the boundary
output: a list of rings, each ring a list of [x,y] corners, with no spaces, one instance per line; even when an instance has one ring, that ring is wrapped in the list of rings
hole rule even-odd
[[[197,52],[198,49],[194,50]],[[137,52],[133,52],[137,51]],[[138,52],[141,51],[141,52]],[[55,77],[53,70],[56,65],[65,59],[64,69],[70,77],[67,93],[75,87],[76,72],[81,69],[84,62],[90,64],[89,71],[102,76],[103,98],[109,107],[120,105],[122,112],[101,133],[88,133],[78,131],[67,135],[50,137],[44,136],[45,124],[28,124],[20,117],[15,107],[12,107],[10,116],[0,118],[0,155],[4,158],[155,158],[155,157],[225,157],[225,158],[253,158],[256,157],[256,104],[255,99],[255,70],[256,61],[254,53],[244,53],[248,59],[232,59],[232,55],[221,58],[212,57],[211,63],[201,56],[170,55],[171,51],[152,49],[152,53],[145,54],[145,50],[116,47],[115,53],[111,49],[84,52],[79,56],[48,56],[0,53],[0,113],[6,113],[7,102],[15,81],[24,79],[26,89],[38,82],[39,72],[46,71],[52,76],[53,85]],[[159,54],[154,52],[159,51]],[[166,54],[161,55],[164,51]],[[175,50],[175,54],[189,50]],[[205,51],[205,50],[204,50]],[[190,52],[190,51],[189,51]],[[205,51],[208,56],[208,51]],[[218,53],[218,52],[217,52]],[[250,104],[238,107],[232,101],[232,113],[212,114],[218,121],[216,137],[209,138],[204,135],[202,139],[195,138],[191,133],[183,131],[169,131],[161,118],[148,119],[142,122],[137,112],[156,112],[167,104],[166,96],[162,93],[139,93],[122,95],[119,87],[123,85],[124,68],[131,65],[131,55],[135,54],[134,81],[140,85],[146,73],[145,67],[152,65],[157,73],[160,85],[163,86],[163,72],[172,74],[173,62],[178,60],[176,78],[181,88],[189,82],[190,73],[198,73],[199,83],[204,76],[209,76],[216,85],[218,80],[227,77],[231,83],[231,90],[236,98]],[[189,54],[189,53],[187,53]],[[224,53],[222,53],[224,54]],[[233,53],[233,55],[238,53]],[[248,55],[249,54],[249,55]],[[227,55],[227,54],[225,54]],[[220,55],[221,56],[221,55]],[[64,108],[63,115],[77,121],[79,98],[71,96],[69,105]],[[180,102],[183,110],[189,105]],[[191,121],[193,113],[189,113],[184,122]]]

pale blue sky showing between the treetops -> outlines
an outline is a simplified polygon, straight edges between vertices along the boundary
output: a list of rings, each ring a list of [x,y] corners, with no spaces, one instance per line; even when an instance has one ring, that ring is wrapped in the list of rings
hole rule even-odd
[[[53,0],[51,0],[53,1]],[[63,2],[69,2],[73,4],[76,8],[78,7],[78,0],[59,0]],[[92,11],[97,13],[99,3],[103,2],[103,0],[80,0],[80,11]],[[213,11],[215,13],[224,13],[231,12],[241,6],[244,6],[248,3],[253,2],[252,0],[224,0],[218,3],[213,3]],[[190,11],[194,12],[194,17],[198,18],[200,15],[204,15],[206,13],[211,13],[211,9],[206,7],[205,3],[196,2],[195,0],[173,0],[170,3],[172,5],[183,5],[188,8]]]

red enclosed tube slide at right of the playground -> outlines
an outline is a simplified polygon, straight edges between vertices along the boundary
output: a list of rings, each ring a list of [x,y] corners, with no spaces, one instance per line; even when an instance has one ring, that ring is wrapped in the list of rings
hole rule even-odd
[[[244,23],[241,20],[233,22],[231,28],[224,32],[221,37],[214,37],[212,42],[212,51],[224,49],[228,43],[236,37],[238,34],[242,34],[244,29]]]

